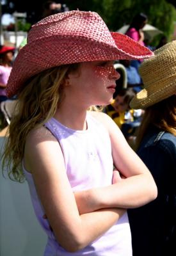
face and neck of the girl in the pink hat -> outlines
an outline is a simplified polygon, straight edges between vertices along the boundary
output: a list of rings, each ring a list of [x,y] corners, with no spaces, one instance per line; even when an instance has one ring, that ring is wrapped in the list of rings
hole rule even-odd
[[[115,81],[119,77],[120,74],[113,67],[113,61],[81,63],[80,69],[69,74],[65,81],[65,97],[56,111],[55,118],[67,127],[86,129],[86,110],[93,105],[108,105],[113,99]],[[67,115],[63,115],[65,111]],[[82,124],[77,122],[77,114],[82,116]],[[67,116],[72,116],[72,120]]]

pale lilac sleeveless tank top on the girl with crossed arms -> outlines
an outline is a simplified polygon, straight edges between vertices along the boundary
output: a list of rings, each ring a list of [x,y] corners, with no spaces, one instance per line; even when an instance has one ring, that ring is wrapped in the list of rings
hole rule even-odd
[[[73,191],[108,186],[111,184],[113,175],[111,141],[108,131],[90,113],[87,114],[86,122],[88,125],[86,131],[72,130],[54,118],[45,124],[45,127],[60,141],[68,180]],[[32,175],[26,170],[24,174],[29,184],[36,217],[48,236],[44,256],[132,256],[131,231],[127,212],[113,227],[109,228],[108,232],[83,250],[69,253],[63,249],[56,242],[48,221],[42,218],[44,210],[36,193]]]

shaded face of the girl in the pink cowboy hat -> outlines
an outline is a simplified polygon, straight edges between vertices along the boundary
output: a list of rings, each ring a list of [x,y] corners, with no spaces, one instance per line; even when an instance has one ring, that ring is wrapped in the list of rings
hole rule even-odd
[[[86,107],[109,104],[115,93],[116,79],[120,74],[113,67],[113,61],[90,61],[81,63],[78,73],[68,75],[67,92]]]

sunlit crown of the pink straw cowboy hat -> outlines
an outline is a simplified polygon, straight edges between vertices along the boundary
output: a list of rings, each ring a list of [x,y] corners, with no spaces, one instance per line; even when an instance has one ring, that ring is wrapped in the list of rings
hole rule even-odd
[[[108,27],[95,12],[71,11],[46,17],[33,25],[28,34],[28,43],[49,36],[77,36],[115,46]]]

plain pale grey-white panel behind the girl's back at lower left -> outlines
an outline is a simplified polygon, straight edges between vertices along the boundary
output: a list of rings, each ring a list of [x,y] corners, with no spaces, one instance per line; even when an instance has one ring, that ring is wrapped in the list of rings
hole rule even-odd
[[[0,137],[0,150],[3,141]],[[33,212],[28,184],[4,179],[0,164],[0,256],[42,256],[46,240]]]

